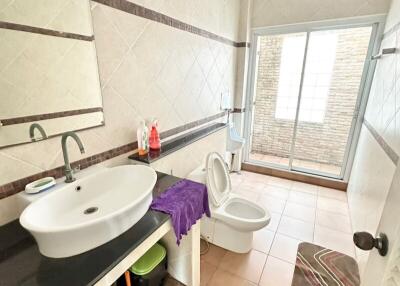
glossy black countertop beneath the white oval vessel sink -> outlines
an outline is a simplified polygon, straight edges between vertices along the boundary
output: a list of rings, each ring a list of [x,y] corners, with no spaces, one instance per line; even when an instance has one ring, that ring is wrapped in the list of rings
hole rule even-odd
[[[157,173],[153,197],[179,180]],[[33,237],[15,220],[0,227],[0,286],[93,285],[168,219],[164,213],[149,210],[133,227],[108,243],[57,259],[41,255]]]

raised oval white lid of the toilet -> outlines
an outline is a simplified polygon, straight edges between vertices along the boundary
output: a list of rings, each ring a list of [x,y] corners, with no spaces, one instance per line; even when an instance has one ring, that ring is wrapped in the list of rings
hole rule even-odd
[[[206,180],[209,197],[212,203],[219,207],[228,199],[231,192],[231,180],[224,160],[216,152],[207,156]]]

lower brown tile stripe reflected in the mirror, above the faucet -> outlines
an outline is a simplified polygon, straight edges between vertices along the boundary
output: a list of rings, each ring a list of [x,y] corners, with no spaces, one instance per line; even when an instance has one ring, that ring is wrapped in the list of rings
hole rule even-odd
[[[73,115],[79,115],[79,114],[86,114],[86,113],[92,113],[92,112],[100,112],[100,111],[103,111],[103,107],[93,107],[93,108],[86,108],[86,109],[76,109],[76,110],[67,110],[67,111],[60,111],[60,112],[53,112],[53,113],[29,115],[29,116],[23,116],[23,117],[6,118],[6,119],[0,119],[0,123],[2,126],[6,126],[6,125],[14,125],[14,124],[33,122],[33,121],[59,118],[59,117],[67,117],[67,116],[73,116]]]

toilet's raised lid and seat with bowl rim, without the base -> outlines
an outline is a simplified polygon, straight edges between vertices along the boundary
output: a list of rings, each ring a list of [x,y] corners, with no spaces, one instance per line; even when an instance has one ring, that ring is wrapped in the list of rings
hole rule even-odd
[[[210,153],[206,161],[206,182],[214,207],[211,216],[241,231],[255,231],[266,226],[266,209],[240,195],[233,194],[228,168],[221,155]]]

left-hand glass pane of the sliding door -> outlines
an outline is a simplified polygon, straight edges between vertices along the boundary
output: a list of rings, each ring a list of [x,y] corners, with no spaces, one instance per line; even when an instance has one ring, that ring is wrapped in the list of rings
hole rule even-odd
[[[307,33],[259,36],[249,159],[289,168]]]

